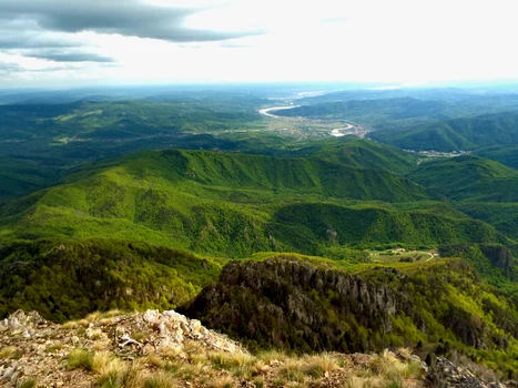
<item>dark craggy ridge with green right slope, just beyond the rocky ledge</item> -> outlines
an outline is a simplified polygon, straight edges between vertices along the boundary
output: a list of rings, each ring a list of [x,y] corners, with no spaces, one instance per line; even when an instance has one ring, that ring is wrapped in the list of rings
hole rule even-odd
[[[453,351],[518,371],[518,312],[461,259],[344,273],[329,261],[283,255],[227,264],[186,313],[252,348]]]

